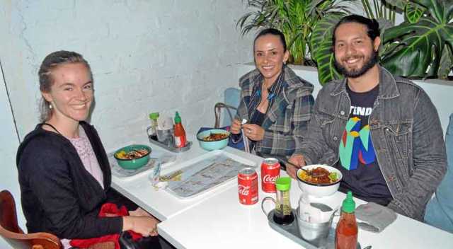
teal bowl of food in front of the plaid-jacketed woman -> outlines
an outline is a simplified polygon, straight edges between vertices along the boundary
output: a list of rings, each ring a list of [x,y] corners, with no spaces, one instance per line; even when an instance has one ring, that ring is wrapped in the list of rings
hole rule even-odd
[[[229,131],[224,129],[208,129],[197,134],[200,147],[207,151],[223,149],[228,145]]]

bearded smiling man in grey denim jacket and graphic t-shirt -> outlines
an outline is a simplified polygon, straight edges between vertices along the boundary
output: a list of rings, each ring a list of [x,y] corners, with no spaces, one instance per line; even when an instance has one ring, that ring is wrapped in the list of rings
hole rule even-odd
[[[352,15],[336,25],[333,52],[345,79],[319,91],[290,161],[335,166],[343,189],[422,220],[447,167],[442,127],[422,88],[377,64],[380,42],[375,20]],[[293,178],[295,170],[287,166]]]

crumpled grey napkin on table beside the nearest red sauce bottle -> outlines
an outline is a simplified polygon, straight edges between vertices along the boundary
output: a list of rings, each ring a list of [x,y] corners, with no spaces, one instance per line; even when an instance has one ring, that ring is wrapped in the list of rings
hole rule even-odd
[[[357,222],[358,226],[373,233],[380,233],[396,219],[396,213],[388,207],[374,202],[361,204],[355,209],[355,217],[364,222]]]

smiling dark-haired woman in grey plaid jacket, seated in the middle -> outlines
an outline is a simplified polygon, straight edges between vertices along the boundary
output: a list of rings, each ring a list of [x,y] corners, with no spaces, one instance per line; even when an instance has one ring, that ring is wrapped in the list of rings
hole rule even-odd
[[[313,85],[286,66],[285,36],[273,28],[262,30],[253,42],[256,69],[239,80],[241,102],[231,125],[232,140],[242,141],[260,156],[292,156],[310,120]],[[241,120],[247,120],[241,125]]]

